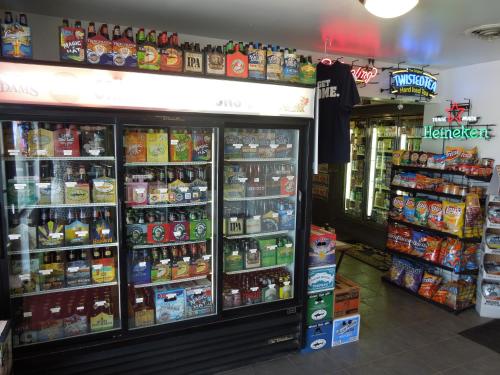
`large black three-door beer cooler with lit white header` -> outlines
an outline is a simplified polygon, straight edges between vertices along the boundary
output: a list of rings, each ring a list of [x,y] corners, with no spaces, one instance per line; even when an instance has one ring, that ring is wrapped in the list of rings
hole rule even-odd
[[[18,373],[206,373],[300,347],[313,89],[6,62],[0,79],[25,88],[0,93]]]

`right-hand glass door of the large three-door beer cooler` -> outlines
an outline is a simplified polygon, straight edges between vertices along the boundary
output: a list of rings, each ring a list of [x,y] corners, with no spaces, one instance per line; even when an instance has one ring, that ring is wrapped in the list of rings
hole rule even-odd
[[[292,299],[299,131],[224,131],[223,309]]]

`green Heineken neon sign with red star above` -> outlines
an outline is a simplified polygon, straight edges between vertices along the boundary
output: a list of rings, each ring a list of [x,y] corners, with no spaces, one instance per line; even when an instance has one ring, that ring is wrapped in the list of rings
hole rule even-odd
[[[432,119],[432,125],[424,125],[425,139],[490,139],[490,126],[478,126],[478,116],[464,116],[469,112],[470,103],[451,102],[447,116]]]

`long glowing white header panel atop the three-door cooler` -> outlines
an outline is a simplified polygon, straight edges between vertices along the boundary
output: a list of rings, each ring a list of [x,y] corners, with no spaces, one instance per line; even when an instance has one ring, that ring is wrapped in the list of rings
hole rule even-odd
[[[314,117],[314,88],[0,62],[0,102]]]

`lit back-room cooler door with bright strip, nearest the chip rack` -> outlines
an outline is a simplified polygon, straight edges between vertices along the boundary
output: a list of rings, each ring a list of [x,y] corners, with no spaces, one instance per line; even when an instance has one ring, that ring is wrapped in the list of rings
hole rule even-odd
[[[392,153],[399,148],[398,128],[392,118],[376,119],[371,127],[367,217],[385,225],[390,206]]]

